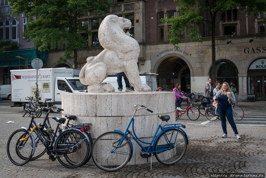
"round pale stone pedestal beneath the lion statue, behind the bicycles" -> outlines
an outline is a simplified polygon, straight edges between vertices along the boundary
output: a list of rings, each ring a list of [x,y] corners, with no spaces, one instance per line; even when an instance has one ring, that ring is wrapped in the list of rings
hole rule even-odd
[[[62,115],[77,116],[74,122],[92,123],[90,133],[95,140],[100,134],[114,129],[124,132],[135,111],[133,106],[141,104],[153,110],[153,113],[145,109],[138,110],[134,117],[134,131],[141,140],[150,142],[161,121],[158,114],[169,115],[171,118],[162,125],[175,123],[174,100],[174,92],[62,94]],[[129,130],[132,131],[132,126]],[[150,162],[150,158],[140,156],[141,148],[133,139],[132,143],[133,157],[128,165]],[[153,162],[155,161],[157,160],[153,156]],[[90,160],[89,163],[93,164],[93,161]]]

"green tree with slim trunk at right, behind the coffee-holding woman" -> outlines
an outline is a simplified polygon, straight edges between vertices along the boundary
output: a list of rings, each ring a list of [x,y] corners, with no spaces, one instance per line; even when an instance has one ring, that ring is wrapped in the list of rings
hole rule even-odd
[[[182,38],[181,32],[185,28],[189,29],[188,38],[202,42],[202,36],[198,34],[197,26],[203,22],[211,23],[212,37],[212,80],[216,81],[215,69],[215,19],[218,12],[223,13],[231,10],[233,7],[242,7],[246,10],[246,14],[250,15],[254,12],[257,15],[260,11],[266,11],[266,0],[174,0],[179,3],[179,17],[171,17],[169,19],[161,19],[164,23],[173,23],[170,28],[169,43],[176,48]],[[204,18],[204,13],[210,14],[210,21]],[[213,82],[213,86],[215,82]],[[214,86],[215,87],[215,86]]]

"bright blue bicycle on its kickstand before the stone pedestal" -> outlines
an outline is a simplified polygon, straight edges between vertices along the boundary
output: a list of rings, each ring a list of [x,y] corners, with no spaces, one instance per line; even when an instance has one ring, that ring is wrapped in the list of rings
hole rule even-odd
[[[158,115],[162,120],[151,140],[144,142],[140,140],[134,131],[134,116],[137,110],[146,109],[153,113],[147,107],[137,104],[134,105],[135,112],[126,127],[125,132],[114,130],[101,134],[93,143],[92,159],[98,168],[104,171],[117,171],[124,167],[132,158],[133,145],[130,139],[134,139],[140,145],[140,155],[142,158],[148,158],[155,155],[156,159],[165,165],[171,165],[178,162],[186,153],[188,137],[186,132],[180,127],[186,128],[183,124],[166,124],[161,126],[163,121],[168,121],[170,116]],[[132,124],[132,130],[129,126]],[[158,134],[159,129],[161,130]],[[148,144],[143,147],[141,143]]]

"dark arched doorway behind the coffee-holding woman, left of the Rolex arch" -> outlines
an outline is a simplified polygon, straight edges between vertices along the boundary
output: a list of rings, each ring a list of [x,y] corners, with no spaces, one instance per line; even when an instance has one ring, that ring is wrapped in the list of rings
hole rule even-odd
[[[238,93],[239,86],[238,86],[238,70],[236,65],[226,59],[217,60],[215,62],[216,68],[216,80],[220,83],[227,82],[230,86],[230,89]],[[212,67],[209,71],[209,76],[212,77]],[[213,81],[215,83],[216,81]]]

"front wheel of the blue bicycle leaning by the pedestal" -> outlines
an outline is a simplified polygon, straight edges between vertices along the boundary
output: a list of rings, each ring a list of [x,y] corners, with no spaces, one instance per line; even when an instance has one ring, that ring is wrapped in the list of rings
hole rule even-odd
[[[124,167],[129,161],[132,154],[132,147],[126,137],[122,144],[126,143],[123,147],[114,148],[112,144],[121,139],[123,134],[119,132],[106,132],[101,134],[93,143],[92,146],[92,159],[95,165],[104,171],[117,171]],[[111,150],[115,150],[111,152]],[[116,154],[118,153],[118,154]],[[120,154],[123,153],[123,154]],[[104,156],[104,157],[103,157]]]

